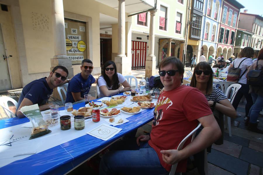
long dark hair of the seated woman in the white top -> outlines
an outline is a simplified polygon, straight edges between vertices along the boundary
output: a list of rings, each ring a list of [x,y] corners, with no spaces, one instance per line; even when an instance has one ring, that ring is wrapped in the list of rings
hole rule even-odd
[[[110,83],[110,78],[106,75],[105,73],[105,68],[108,67],[109,65],[113,65],[114,67],[114,74],[113,74],[113,84]],[[118,75],[117,75],[117,68],[116,68],[116,64],[114,61],[106,61],[104,66],[103,66],[103,74],[101,75],[103,76],[104,80],[106,81],[107,83],[107,86],[110,88],[110,86],[112,85],[112,89],[111,90],[116,90],[119,88],[119,78],[118,78]]]

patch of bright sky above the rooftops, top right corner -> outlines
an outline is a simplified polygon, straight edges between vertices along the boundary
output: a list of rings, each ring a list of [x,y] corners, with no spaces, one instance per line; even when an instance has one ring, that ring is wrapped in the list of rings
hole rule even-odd
[[[244,10],[248,10],[248,13],[263,15],[262,12],[262,0],[237,0],[241,3],[245,8],[242,8],[240,12],[244,12]]]

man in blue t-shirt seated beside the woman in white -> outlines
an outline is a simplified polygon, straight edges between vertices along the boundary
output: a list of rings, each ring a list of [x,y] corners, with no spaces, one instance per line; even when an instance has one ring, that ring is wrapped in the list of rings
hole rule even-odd
[[[81,64],[81,73],[75,75],[71,78],[68,84],[68,91],[67,91],[67,102],[84,102],[84,95],[89,93],[92,83],[97,83],[97,78],[95,79],[91,72],[93,70],[92,61],[88,59],[82,60]],[[95,99],[93,97],[93,99]],[[91,97],[92,100],[92,97]]]

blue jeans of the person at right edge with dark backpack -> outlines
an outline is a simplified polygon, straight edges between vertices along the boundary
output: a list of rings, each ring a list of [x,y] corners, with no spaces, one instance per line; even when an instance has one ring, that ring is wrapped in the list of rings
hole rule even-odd
[[[253,106],[249,110],[250,123],[256,123],[257,117],[260,113],[260,111],[263,108],[263,96],[257,95],[255,93],[251,93],[252,99],[253,99]]]

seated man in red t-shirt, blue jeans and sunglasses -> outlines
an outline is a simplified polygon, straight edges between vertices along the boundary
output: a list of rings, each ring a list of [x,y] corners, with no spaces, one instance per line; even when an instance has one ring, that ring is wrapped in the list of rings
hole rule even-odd
[[[165,91],[158,98],[150,136],[139,136],[138,148],[105,154],[100,174],[165,174],[177,162],[176,171],[185,172],[186,158],[207,148],[221,136],[205,96],[197,88],[182,85],[182,62],[176,57],[165,58],[160,63],[159,74]],[[204,127],[202,131],[193,142],[189,143],[189,139],[182,150],[176,150],[198,122]]]

